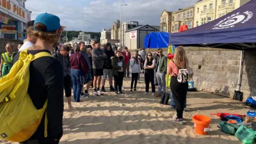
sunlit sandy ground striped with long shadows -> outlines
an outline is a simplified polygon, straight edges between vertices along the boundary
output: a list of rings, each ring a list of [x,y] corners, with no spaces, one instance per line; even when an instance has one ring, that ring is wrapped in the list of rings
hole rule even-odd
[[[67,110],[65,102],[64,134],[60,143],[241,143],[234,136],[221,132],[217,127],[220,119],[210,116],[227,112],[246,114],[249,108],[241,102],[205,92],[190,92],[188,110],[183,114],[186,123],[181,125],[171,122],[174,109],[160,105],[159,98],[151,94],[143,95],[145,84],[138,84],[138,91],[131,93],[130,83],[130,78],[125,78],[125,94],[115,95],[109,92],[107,81],[105,95],[73,103],[77,110]],[[196,114],[211,117],[207,135],[194,133],[191,119]]]

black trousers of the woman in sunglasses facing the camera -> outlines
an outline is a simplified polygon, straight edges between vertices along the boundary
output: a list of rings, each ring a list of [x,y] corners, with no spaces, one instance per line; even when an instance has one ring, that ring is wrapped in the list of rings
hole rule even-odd
[[[146,69],[145,70],[145,84],[146,84],[146,92],[149,92],[149,83],[151,83],[152,92],[156,92],[156,87],[154,84],[154,69]]]

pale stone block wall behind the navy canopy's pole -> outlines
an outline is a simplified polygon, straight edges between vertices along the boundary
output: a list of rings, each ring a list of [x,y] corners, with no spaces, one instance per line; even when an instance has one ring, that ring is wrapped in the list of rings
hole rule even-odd
[[[185,50],[198,90],[233,97],[237,89],[241,51],[203,47],[185,47]],[[156,49],[147,51],[155,52]],[[167,55],[167,49],[163,51]],[[241,91],[244,100],[256,96],[256,51],[244,52]]]

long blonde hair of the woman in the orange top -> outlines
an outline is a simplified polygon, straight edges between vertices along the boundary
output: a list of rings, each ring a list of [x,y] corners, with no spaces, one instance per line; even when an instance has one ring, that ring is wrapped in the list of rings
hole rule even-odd
[[[182,46],[178,46],[175,48],[173,62],[179,68],[188,67],[188,59],[186,57],[185,50],[183,49]],[[181,62],[184,62],[185,65],[181,66]]]

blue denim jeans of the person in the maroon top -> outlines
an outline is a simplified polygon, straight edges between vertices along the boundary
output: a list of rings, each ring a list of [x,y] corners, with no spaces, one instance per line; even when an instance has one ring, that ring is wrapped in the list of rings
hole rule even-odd
[[[84,84],[84,71],[80,69],[71,69],[70,74],[73,81],[73,92],[75,102],[80,102],[82,85]]]

